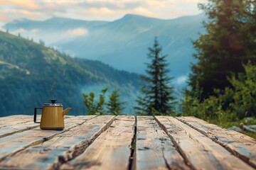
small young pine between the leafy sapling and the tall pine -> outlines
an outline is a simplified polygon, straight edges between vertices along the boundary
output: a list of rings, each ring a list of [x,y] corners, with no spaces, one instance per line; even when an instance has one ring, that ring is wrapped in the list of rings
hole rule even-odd
[[[124,108],[122,105],[124,102],[120,101],[119,91],[114,90],[110,96],[110,100],[107,103],[107,110],[112,115],[120,115]]]

